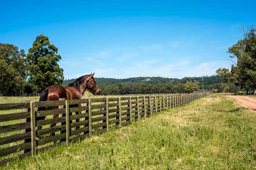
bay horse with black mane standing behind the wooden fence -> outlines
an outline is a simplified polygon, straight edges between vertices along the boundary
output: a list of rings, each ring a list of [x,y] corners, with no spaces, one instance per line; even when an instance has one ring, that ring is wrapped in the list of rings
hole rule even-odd
[[[94,73],[90,75],[84,75],[79,78],[77,78],[73,83],[70,83],[65,88],[61,85],[50,85],[44,91],[41,93],[39,101],[51,101],[51,100],[59,100],[60,98],[65,98],[66,100],[71,99],[81,99],[84,91],[86,89],[89,89],[90,91],[93,91],[93,93],[99,94],[99,87],[96,84],[96,81],[94,79]],[[78,107],[78,105],[72,105],[70,107]],[[48,109],[58,109],[58,106],[52,106],[52,107],[41,107],[38,108],[38,111],[42,110],[48,110]],[[81,112],[76,112],[76,114],[79,114]],[[38,117],[37,120],[44,120],[46,116]],[[57,115],[53,115],[53,118],[58,118]],[[79,119],[76,119],[76,122],[78,122]],[[55,127],[56,123],[51,124],[51,127]],[[77,127],[79,128],[79,127]],[[38,130],[41,130],[42,126],[38,127]],[[54,135],[55,133],[52,133]]]

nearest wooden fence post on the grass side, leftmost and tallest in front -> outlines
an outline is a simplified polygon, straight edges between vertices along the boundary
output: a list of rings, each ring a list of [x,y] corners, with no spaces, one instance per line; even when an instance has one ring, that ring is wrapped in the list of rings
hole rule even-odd
[[[35,156],[35,102],[30,102],[30,125],[31,125],[31,154]]]

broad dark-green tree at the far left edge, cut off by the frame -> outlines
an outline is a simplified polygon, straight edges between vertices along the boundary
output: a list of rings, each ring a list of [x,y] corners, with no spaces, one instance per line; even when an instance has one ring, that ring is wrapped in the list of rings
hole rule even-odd
[[[12,44],[0,43],[0,94],[15,95],[26,82],[26,55]]]

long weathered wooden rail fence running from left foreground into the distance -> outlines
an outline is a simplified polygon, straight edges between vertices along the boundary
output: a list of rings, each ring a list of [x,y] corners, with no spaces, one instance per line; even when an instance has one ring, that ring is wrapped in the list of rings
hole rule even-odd
[[[0,104],[0,163],[125,126],[208,93],[101,97]],[[38,108],[52,107],[40,111]],[[81,112],[80,114],[78,112]],[[52,115],[59,115],[53,119]],[[46,116],[46,119],[39,120]],[[50,125],[57,125],[51,127]],[[39,128],[42,126],[43,128]]]

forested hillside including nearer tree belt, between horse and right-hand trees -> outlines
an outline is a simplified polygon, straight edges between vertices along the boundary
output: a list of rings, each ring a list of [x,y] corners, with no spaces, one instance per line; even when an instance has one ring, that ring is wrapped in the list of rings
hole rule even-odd
[[[184,77],[173,79],[164,77],[132,77],[128,79],[95,78],[100,88],[101,95],[114,94],[153,94],[153,93],[191,93],[201,91],[202,77]],[[75,79],[64,80],[67,85]],[[221,91],[220,83],[224,82],[220,76],[204,77],[204,90],[218,89]]]

